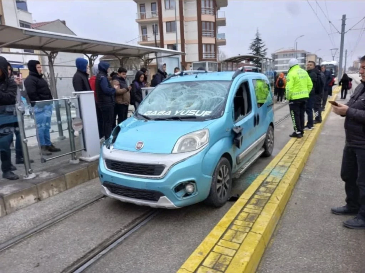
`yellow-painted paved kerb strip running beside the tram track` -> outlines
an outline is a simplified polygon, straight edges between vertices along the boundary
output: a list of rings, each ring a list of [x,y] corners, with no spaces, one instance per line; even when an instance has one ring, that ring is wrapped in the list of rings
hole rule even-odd
[[[177,273],[255,272],[330,110],[302,139],[289,140]]]

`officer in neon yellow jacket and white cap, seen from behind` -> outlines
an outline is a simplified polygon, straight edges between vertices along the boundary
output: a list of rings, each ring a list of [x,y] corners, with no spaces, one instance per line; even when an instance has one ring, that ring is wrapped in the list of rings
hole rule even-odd
[[[289,67],[285,91],[294,126],[294,132],[290,137],[300,139],[304,133],[304,113],[313,83],[307,71],[300,68],[297,59],[291,59]]]

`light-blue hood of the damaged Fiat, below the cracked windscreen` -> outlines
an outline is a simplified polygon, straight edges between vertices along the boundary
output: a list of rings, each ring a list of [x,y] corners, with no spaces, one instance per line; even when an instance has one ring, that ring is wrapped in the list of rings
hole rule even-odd
[[[138,120],[128,118],[120,124],[120,132],[114,143],[114,149],[142,153],[171,153],[176,141],[183,136],[201,130],[211,124],[207,121],[166,121]],[[138,141],[143,148],[136,149]]]

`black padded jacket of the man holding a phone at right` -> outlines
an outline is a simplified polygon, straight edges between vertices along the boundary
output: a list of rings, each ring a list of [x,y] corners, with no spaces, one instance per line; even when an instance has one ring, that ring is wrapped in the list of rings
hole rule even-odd
[[[346,145],[365,149],[365,83],[360,83],[346,104]]]

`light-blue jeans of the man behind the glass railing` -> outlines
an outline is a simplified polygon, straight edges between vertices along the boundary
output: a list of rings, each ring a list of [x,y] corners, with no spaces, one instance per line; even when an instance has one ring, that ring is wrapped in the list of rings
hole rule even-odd
[[[42,108],[34,107],[34,116],[37,123],[39,145],[51,146],[51,118],[53,105],[45,105]]]

